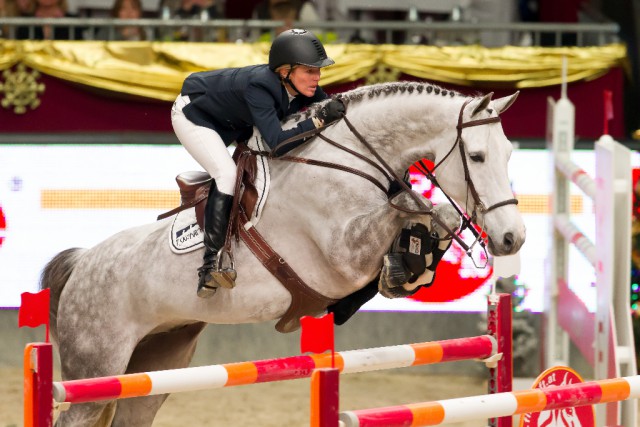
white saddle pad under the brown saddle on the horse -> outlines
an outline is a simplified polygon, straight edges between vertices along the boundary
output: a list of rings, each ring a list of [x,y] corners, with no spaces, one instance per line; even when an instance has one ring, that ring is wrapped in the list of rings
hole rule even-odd
[[[248,141],[249,148],[257,151],[267,151],[268,148],[264,140],[260,137],[253,137]],[[257,159],[256,180],[254,185],[258,190],[258,200],[251,216],[251,222],[255,225],[260,221],[260,215],[264,205],[267,203],[269,186],[271,179],[269,176],[269,163],[264,156]],[[169,247],[176,254],[185,254],[195,251],[204,246],[204,233],[196,221],[195,208],[185,209],[178,212],[173,217],[171,227],[169,227]]]

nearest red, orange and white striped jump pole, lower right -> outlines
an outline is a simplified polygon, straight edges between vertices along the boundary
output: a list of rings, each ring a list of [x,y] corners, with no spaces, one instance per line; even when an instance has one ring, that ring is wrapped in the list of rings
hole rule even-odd
[[[346,411],[341,427],[421,427],[640,398],[640,376]],[[628,427],[628,426],[627,426]]]

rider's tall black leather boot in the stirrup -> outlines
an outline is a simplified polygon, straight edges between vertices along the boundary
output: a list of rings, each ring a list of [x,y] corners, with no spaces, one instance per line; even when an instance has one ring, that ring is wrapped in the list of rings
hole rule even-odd
[[[215,181],[212,181],[204,209],[204,256],[202,267],[198,269],[200,298],[213,296],[220,287],[231,289],[236,285],[237,274],[233,265],[222,265],[222,248],[227,237],[232,204],[233,196],[220,192]]]

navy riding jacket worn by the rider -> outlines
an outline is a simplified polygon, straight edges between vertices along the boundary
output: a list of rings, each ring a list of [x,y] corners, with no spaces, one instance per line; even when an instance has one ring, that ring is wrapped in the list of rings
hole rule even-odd
[[[184,115],[218,132],[226,145],[246,141],[256,126],[271,148],[314,129],[311,119],[287,130],[282,130],[280,121],[328,97],[318,86],[312,97],[298,95],[289,103],[280,77],[267,65],[193,73],[184,81],[181,94],[191,99],[182,110]]]

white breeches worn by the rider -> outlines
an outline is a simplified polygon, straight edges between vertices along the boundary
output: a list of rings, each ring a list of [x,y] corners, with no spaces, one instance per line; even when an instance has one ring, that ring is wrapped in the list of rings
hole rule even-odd
[[[178,95],[171,108],[171,124],[187,152],[216,181],[218,190],[233,195],[236,184],[236,164],[218,132],[198,126],[187,119],[182,109],[189,97]]]

